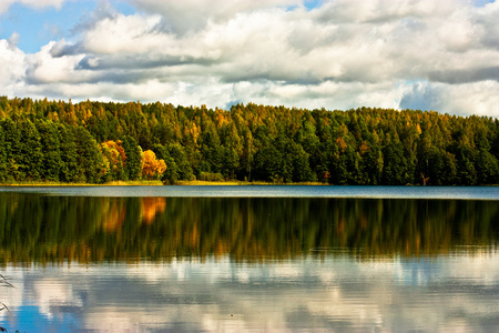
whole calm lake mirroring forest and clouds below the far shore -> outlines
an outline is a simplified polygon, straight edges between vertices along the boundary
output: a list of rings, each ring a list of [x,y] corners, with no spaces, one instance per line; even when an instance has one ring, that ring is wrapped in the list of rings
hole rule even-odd
[[[0,188],[8,332],[497,332],[499,188]]]

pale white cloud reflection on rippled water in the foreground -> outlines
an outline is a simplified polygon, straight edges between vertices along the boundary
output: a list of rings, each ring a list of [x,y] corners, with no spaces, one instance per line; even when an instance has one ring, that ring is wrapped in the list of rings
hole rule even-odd
[[[223,256],[9,268],[18,287],[2,301],[13,317],[35,304],[52,321],[70,313],[101,332],[487,331],[499,326],[498,262],[496,251],[410,261],[344,255],[248,264]]]

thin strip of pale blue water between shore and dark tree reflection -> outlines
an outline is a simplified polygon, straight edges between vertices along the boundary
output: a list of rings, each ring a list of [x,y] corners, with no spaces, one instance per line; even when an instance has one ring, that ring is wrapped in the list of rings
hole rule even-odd
[[[499,200],[499,186],[0,186],[3,192],[75,196],[378,198]]]

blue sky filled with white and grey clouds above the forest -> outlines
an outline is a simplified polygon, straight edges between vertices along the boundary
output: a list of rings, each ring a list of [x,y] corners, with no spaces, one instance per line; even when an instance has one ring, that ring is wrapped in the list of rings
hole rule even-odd
[[[499,0],[0,0],[0,95],[499,118]]]

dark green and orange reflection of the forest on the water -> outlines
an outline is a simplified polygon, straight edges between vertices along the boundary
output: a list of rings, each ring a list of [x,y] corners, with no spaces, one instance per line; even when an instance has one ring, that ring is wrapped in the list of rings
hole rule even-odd
[[[349,249],[359,256],[432,255],[496,244],[488,201],[58,198],[0,193],[4,262],[284,259]]]

